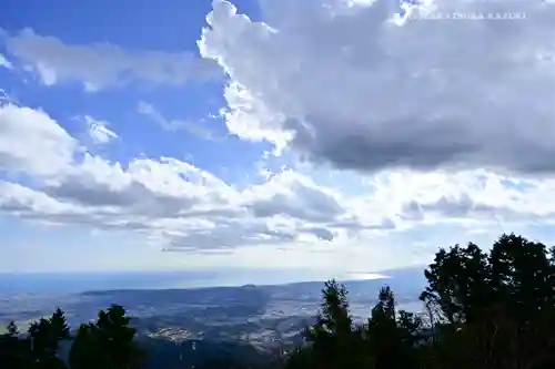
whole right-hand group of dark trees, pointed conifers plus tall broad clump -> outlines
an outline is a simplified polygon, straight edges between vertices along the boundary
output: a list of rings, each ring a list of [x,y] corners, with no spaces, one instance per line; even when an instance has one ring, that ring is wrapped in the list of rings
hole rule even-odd
[[[470,243],[441,248],[421,295],[428,321],[395,310],[380,290],[367,324],[353,326],[346,290],[326,284],[310,345],[296,368],[555,368],[555,247],[503,235],[488,254]],[[351,327],[351,328],[349,328]]]

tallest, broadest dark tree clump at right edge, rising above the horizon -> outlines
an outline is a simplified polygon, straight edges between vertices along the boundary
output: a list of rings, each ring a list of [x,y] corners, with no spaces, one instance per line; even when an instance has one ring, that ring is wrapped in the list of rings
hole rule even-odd
[[[443,365],[533,368],[553,361],[554,259],[546,247],[502,235],[490,255],[476,245],[440,249],[421,299],[436,307]],[[453,347],[464,348],[453,350]],[[539,362],[539,363],[538,363]]]

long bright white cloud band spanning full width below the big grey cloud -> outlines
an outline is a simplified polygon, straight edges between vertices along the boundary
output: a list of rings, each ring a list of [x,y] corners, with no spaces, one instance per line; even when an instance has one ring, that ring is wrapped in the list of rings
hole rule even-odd
[[[330,268],[401,266],[422,263],[435,250],[432,234],[442,243],[466,242],[471,233],[484,238],[555,221],[554,180],[484,170],[395,170],[360,176],[366,184],[347,194],[333,185],[336,180],[330,185],[313,180],[314,168],[306,165],[261,173],[262,181],[238,188],[175,158],[135,158],[124,166],[90,153],[74,155],[77,141],[30,107],[4,104],[0,124],[1,167],[34,178],[32,185],[0,182],[0,213],[137,234],[161,249],[198,257],[232,250],[241,265],[256,266],[262,262],[254,258],[266,255],[272,264],[296,266],[301,262],[287,259],[291,255],[301,260],[313,255]],[[20,137],[30,144],[13,145]],[[280,249],[285,259],[276,260]]]

